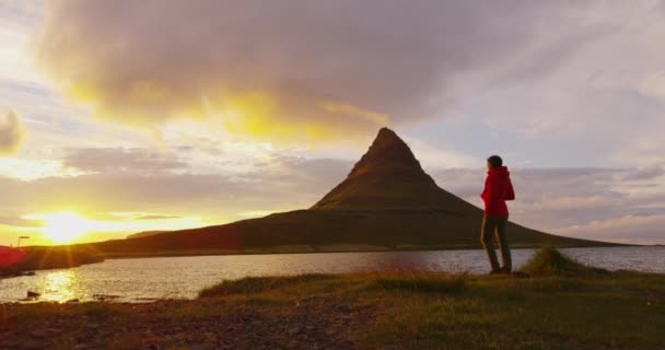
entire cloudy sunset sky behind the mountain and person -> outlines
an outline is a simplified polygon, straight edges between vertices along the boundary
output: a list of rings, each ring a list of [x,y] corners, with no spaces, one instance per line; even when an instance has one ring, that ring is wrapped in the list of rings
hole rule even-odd
[[[383,126],[511,219],[665,244],[665,2],[0,0],[0,245],[307,208]],[[470,232],[469,234],[477,234]]]

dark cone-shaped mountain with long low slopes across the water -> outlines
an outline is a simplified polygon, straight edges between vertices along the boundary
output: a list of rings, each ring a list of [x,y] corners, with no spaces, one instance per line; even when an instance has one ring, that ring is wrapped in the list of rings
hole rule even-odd
[[[479,184],[481,186],[481,184]],[[347,178],[307,210],[93,244],[112,255],[479,248],[482,210],[440,188],[383,128]],[[612,246],[508,228],[513,247]]]

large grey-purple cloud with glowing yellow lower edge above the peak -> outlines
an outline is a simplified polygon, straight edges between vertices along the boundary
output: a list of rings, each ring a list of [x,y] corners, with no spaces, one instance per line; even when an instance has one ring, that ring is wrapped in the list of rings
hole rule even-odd
[[[242,135],[339,139],[433,117],[467,73],[513,60],[541,34],[565,36],[544,31],[550,25],[586,25],[579,7],[51,1],[38,51],[66,94],[105,118],[214,118]]]

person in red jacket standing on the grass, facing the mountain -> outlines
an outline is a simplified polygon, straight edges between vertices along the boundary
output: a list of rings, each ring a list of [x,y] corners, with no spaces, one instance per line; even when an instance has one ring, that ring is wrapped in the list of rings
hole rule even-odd
[[[511,273],[513,265],[511,249],[505,237],[505,225],[508,223],[505,201],[515,199],[515,191],[508,167],[503,166],[503,160],[499,155],[492,155],[487,160],[487,170],[485,190],[480,195],[485,201],[480,241],[492,266],[490,273]],[[495,236],[501,249],[502,267],[499,267],[497,253],[492,245],[492,236]]]

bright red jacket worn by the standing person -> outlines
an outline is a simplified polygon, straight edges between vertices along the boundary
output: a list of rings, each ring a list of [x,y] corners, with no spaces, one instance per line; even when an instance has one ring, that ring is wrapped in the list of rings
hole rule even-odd
[[[508,167],[493,167],[487,173],[485,190],[480,197],[485,200],[485,213],[488,215],[508,217],[506,200],[515,199],[515,191],[511,183],[511,173]]]

